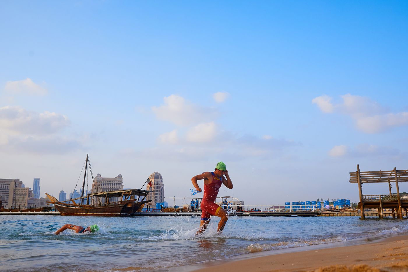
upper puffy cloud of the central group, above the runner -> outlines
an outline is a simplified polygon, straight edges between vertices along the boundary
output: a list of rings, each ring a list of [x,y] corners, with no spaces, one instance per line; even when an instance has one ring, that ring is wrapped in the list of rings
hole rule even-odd
[[[152,107],[156,117],[179,126],[188,126],[209,121],[215,116],[215,110],[194,105],[181,96],[172,94],[164,97],[164,105]]]

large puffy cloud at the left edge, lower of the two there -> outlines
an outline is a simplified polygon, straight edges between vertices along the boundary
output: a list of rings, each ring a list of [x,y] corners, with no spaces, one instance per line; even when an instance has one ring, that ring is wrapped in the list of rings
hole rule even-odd
[[[0,127],[16,134],[53,134],[68,125],[67,116],[55,112],[37,113],[13,106],[0,108]]]

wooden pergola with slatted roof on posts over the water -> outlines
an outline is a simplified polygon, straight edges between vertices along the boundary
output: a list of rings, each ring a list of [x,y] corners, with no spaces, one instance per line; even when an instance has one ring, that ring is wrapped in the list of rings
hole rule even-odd
[[[395,218],[395,209],[397,212],[397,217],[399,219],[403,218],[402,208],[404,208],[405,213],[408,217],[408,194],[400,194],[398,187],[398,183],[403,181],[408,181],[408,170],[397,170],[397,168],[394,167],[393,170],[389,171],[379,170],[360,172],[360,167],[357,164],[357,171],[350,172],[350,183],[358,183],[360,196],[360,202],[358,203],[358,206],[361,210],[361,218],[365,218],[364,208],[377,209],[379,218],[384,217],[383,209],[392,209],[392,217]],[[395,182],[397,195],[391,193],[392,182]],[[361,191],[362,183],[388,183],[390,194],[363,195]]]

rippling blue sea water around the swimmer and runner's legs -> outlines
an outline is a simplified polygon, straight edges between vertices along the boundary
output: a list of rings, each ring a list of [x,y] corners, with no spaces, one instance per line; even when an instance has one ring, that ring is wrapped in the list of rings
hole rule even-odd
[[[408,221],[350,217],[236,217],[221,235],[213,218],[0,216],[0,271],[166,270],[233,256],[305,245],[408,233]],[[54,232],[70,223],[96,233]]]

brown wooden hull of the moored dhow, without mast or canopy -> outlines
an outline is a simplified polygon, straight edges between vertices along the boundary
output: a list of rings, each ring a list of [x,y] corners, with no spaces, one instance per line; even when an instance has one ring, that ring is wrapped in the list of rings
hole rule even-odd
[[[129,216],[135,214],[139,207],[150,201],[120,201],[116,205],[72,206],[55,203],[55,208],[63,216]]]

